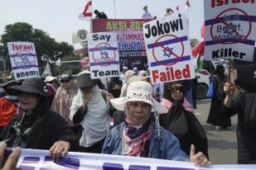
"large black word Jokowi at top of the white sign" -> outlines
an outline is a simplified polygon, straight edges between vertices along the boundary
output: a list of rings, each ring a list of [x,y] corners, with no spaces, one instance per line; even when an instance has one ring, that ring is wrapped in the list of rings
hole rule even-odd
[[[178,15],[178,18],[173,21],[166,21],[160,23],[157,21],[157,26],[151,26],[150,24],[145,24],[144,28],[147,29],[145,34],[146,38],[150,38],[151,36],[159,36],[165,35],[170,32],[183,30],[182,18],[181,14]]]

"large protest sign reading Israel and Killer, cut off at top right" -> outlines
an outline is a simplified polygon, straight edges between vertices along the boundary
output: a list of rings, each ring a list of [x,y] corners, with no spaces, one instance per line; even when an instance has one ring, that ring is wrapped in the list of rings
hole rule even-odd
[[[255,0],[205,2],[205,59],[253,61],[256,39]]]

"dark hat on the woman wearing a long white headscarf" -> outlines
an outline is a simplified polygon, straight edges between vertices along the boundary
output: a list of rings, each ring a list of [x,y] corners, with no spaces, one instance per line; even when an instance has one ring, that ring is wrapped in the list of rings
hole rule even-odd
[[[96,79],[92,79],[90,77],[90,73],[81,73],[78,76],[78,81],[76,83],[76,87],[83,88],[83,87],[94,87],[97,84]]]

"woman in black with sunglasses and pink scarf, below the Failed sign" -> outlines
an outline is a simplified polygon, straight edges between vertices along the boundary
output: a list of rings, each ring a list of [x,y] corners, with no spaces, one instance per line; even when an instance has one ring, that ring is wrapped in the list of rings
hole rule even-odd
[[[171,101],[162,100],[167,107],[167,113],[160,115],[160,125],[176,135],[181,144],[181,149],[190,154],[191,144],[196,146],[196,152],[202,152],[208,157],[208,141],[205,130],[192,111],[193,107],[187,104],[184,97],[185,89],[181,83],[173,83],[171,88]],[[181,128],[182,127],[182,128]]]

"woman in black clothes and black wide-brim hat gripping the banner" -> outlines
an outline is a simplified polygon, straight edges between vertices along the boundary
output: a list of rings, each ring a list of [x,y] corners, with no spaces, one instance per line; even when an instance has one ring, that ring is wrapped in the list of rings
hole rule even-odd
[[[7,147],[50,149],[57,161],[70,149],[76,149],[78,140],[60,114],[51,111],[46,83],[41,78],[28,78],[21,86],[9,87],[7,92],[17,95],[19,110],[2,130]]]

